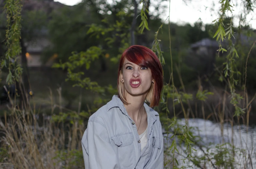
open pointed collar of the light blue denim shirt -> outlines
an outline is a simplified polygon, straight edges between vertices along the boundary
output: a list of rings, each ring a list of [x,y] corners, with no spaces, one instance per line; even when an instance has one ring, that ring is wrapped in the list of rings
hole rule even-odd
[[[113,107],[118,107],[125,115],[128,115],[123,102],[116,95],[114,95],[112,97],[112,100],[107,103],[107,111],[109,111]],[[144,103],[144,108],[145,108],[147,114],[149,114],[154,120],[157,119],[156,116],[159,116],[158,112],[153,110],[146,103]]]

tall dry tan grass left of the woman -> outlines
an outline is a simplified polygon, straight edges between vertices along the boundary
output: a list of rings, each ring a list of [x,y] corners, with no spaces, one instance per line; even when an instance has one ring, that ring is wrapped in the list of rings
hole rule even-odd
[[[18,109],[0,121],[0,168],[84,168],[81,139],[84,124],[38,119],[30,106]],[[52,102],[52,110],[57,107]]]

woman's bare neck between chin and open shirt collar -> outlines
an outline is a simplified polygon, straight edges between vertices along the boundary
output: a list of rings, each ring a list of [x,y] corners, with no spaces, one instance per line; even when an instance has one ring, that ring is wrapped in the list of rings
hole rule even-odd
[[[131,96],[127,93],[126,100],[128,105],[124,104],[126,111],[128,115],[134,120],[134,121],[140,121],[142,113],[145,113],[144,111],[144,100],[146,99],[147,95],[140,95],[140,96]]]

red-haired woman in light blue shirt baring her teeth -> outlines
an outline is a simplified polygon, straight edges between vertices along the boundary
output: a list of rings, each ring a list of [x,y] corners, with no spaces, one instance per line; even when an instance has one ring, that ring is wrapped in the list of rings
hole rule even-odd
[[[126,49],[117,86],[118,96],[89,118],[82,138],[85,169],[163,169],[162,127],[151,108],[163,87],[155,53],[140,45]]]

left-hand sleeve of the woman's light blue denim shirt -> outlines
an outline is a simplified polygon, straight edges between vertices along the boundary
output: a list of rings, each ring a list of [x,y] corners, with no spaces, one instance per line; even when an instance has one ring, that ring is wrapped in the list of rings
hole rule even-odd
[[[88,121],[82,138],[82,149],[85,169],[120,168],[107,129],[97,119]]]

